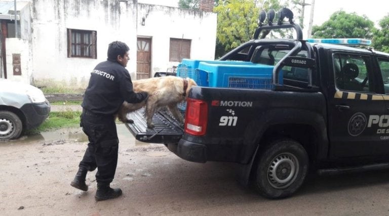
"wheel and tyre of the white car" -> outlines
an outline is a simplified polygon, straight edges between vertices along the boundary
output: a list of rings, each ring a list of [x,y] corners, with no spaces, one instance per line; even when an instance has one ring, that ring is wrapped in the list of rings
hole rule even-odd
[[[18,115],[10,111],[0,111],[0,140],[17,139],[23,124]]]

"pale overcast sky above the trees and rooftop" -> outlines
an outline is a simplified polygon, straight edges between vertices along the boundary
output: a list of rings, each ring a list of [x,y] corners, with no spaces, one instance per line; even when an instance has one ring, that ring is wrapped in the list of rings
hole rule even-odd
[[[301,2],[303,0],[300,0]],[[310,4],[312,0],[305,0]],[[178,0],[138,0],[140,3],[165,5],[177,7]],[[387,7],[389,0],[315,0],[314,25],[321,25],[328,20],[335,11],[343,9],[347,13],[356,12],[358,15],[366,15],[378,27],[378,21],[389,13]],[[308,29],[311,6],[305,7],[304,35]]]

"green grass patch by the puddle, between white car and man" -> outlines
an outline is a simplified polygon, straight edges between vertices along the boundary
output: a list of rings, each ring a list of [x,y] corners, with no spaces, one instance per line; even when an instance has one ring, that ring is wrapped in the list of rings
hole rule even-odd
[[[39,127],[27,131],[26,135],[39,134],[59,128],[79,127],[80,111],[65,110],[62,112],[50,112],[49,117]]]

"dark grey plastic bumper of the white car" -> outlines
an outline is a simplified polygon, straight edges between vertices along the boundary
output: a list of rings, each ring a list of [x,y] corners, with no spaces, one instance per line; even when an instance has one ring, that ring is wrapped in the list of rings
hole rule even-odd
[[[49,116],[50,103],[46,101],[40,104],[25,104],[20,110],[26,117],[26,129],[33,129],[42,124],[42,122]]]

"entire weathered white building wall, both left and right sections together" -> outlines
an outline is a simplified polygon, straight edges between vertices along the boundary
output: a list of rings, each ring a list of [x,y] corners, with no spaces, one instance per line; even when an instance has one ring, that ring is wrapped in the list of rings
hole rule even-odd
[[[85,88],[92,69],[106,60],[108,44],[120,40],[130,47],[127,69],[135,79],[138,36],[152,38],[152,73],[179,63],[169,62],[170,38],[190,39],[192,59],[214,59],[214,13],[138,4],[135,0],[18,0],[21,2],[24,6],[30,3],[20,7],[19,34],[24,40],[7,39],[8,77],[12,76],[12,53],[22,50],[22,77],[17,79],[36,85]],[[97,32],[97,59],[67,57],[67,28]]]

